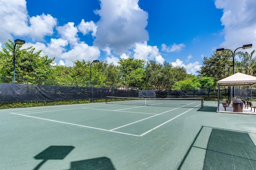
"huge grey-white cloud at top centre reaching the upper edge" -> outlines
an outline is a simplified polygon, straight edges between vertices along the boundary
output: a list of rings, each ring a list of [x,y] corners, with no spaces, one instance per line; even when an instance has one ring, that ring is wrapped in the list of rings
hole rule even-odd
[[[138,0],[101,0],[96,14],[97,32],[94,45],[100,49],[109,47],[114,53],[122,55],[135,43],[147,41],[148,13],[140,9]]]

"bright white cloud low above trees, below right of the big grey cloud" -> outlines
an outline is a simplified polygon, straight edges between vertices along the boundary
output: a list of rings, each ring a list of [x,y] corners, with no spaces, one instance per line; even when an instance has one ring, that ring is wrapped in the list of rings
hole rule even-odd
[[[156,60],[158,63],[163,63],[164,59],[159,53],[159,50],[156,46],[148,45],[147,41],[143,43],[136,43],[134,51],[134,59],[144,59],[148,60]]]

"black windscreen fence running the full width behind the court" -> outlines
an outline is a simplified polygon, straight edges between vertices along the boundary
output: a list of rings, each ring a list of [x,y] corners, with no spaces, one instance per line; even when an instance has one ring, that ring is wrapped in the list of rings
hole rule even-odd
[[[220,100],[232,96],[232,90],[221,89]],[[138,90],[138,88],[96,88],[0,83],[0,102],[105,99],[106,96],[130,98],[204,98],[217,100],[218,90]],[[256,89],[235,89],[235,97],[256,98]]]

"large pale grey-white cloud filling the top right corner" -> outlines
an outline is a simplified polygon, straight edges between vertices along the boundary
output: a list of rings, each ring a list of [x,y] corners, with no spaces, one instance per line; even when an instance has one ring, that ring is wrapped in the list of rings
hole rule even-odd
[[[225,41],[220,48],[235,50],[246,44],[256,43],[256,1],[255,0],[216,0],[215,6],[222,9]],[[252,51],[256,49],[248,49]]]

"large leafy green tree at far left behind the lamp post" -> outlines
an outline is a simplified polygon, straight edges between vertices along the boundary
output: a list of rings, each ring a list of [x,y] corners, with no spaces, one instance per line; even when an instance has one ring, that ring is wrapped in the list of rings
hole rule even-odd
[[[14,43],[9,40],[0,51],[0,75],[13,76],[13,51]],[[53,59],[48,59],[48,56],[41,56],[42,50],[34,53],[35,48],[28,47],[20,49],[22,45],[16,45],[15,48],[15,73],[17,78],[31,79],[52,79]]]

